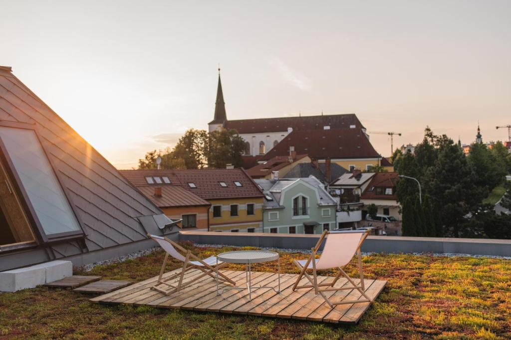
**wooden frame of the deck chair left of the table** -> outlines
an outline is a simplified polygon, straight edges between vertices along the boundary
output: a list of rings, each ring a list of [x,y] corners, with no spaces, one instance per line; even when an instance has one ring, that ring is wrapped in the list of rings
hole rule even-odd
[[[169,277],[166,277],[164,279],[163,275],[165,273],[165,267],[167,266],[167,260],[169,259],[169,255],[170,255],[168,252],[165,254],[165,259],[163,260],[163,264],[161,265],[161,269],[160,269],[160,273],[159,273],[159,276],[158,276],[158,280],[156,281],[156,283],[153,286],[151,286],[151,289],[153,289],[155,291],[158,291],[160,293],[163,293],[165,295],[170,295],[172,293],[178,292],[183,287],[188,286],[188,285],[196,282],[197,280],[199,280],[200,278],[202,278],[202,277],[204,277],[206,275],[211,276],[215,280],[219,279],[219,280],[222,280],[224,282],[229,282],[229,283],[234,284],[234,285],[236,284],[236,282],[234,282],[233,280],[229,279],[227,276],[225,276],[224,274],[220,273],[220,271],[219,271],[221,268],[226,266],[227,263],[221,262],[221,263],[219,263],[218,265],[215,265],[215,266],[208,265],[202,259],[200,259],[197,256],[195,256],[194,254],[192,254],[191,250],[184,249],[183,247],[181,247],[180,245],[178,245],[177,243],[175,243],[174,241],[172,241],[172,240],[170,240],[170,239],[168,239],[166,237],[158,237],[158,236],[154,236],[154,235],[151,235],[151,234],[147,234],[147,236],[149,238],[153,239],[154,241],[156,241],[156,238],[158,238],[160,240],[165,240],[168,243],[170,243],[170,245],[172,245],[175,249],[185,253],[184,261],[183,261],[183,269],[179,273],[176,273],[176,274],[171,275]],[[179,258],[177,258],[177,259],[181,260]],[[191,261],[190,261],[191,259],[199,262],[201,265],[196,265],[196,264],[191,263]],[[193,279],[183,283],[184,274],[186,272],[192,270],[192,269],[199,269],[203,273],[201,275],[196,276]],[[217,276],[217,274],[218,274],[218,276]],[[175,279],[177,277],[179,277],[179,281],[177,282],[177,286],[175,286],[173,284],[170,284],[168,282],[168,281],[171,281],[171,280],[173,280],[173,279]],[[158,287],[158,285],[160,287]],[[170,287],[170,290],[162,289],[161,285],[165,285],[167,287]]]

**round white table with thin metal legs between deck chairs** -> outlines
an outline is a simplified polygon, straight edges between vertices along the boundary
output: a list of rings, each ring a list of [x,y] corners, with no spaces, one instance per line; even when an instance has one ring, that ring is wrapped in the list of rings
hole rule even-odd
[[[245,264],[245,279],[248,289],[248,299],[252,300],[252,268],[253,263],[261,263],[268,261],[278,261],[278,290],[273,286],[256,286],[255,289],[260,288],[271,288],[276,293],[281,292],[281,258],[280,255],[274,251],[267,250],[240,250],[240,251],[228,251],[217,255],[218,261],[235,264]],[[222,293],[230,289],[245,289],[245,287],[228,287],[222,290]],[[217,295],[220,295],[218,289],[218,273],[217,273]]]

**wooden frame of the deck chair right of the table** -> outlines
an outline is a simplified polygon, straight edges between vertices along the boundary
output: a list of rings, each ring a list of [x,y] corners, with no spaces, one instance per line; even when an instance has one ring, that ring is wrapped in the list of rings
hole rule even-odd
[[[316,253],[317,253],[319,247],[321,246],[321,243],[323,242],[323,240],[330,233],[331,232],[328,231],[328,230],[323,231],[323,233],[321,234],[321,237],[319,238],[318,243],[316,244],[316,246],[314,248],[311,249],[311,251],[312,251],[311,256],[309,256],[309,258],[307,259],[307,262],[305,263],[305,266],[302,266],[297,260],[293,260],[294,264],[300,269],[300,275],[298,275],[298,278],[296,279],[296,282],[293,285],[293,289],[292,289],[293,292],[295,290],[297,290],[297,289],[314,288],[315,294],[316,295],[318,295],[318,294],[321,295],[323,297],[323,299],[325,301],[327,301],[327,303],[329,304],[329,306],[331,308],[334,308],[336,305],[341,305],[341,304],[355,304],[355,303],[363,303],[363,302],[373,302],[373,300],[371,300],[367,296],[367,294],[365,294],[364,272],[362,270],[362,255],[361,255],[361,252],[360,252],[360,247],[362,246],[362,243],[364,242],[364,240],[367,238],[367,236],[369,234],[368,230],[365,231],[364,235],[360,239],[360,242],[358,243],[357,251],[356,251],[357,252],[357,257],[358,257],[357,267],[359,268],[359,271],[360,271],[360,285],[357,285],[353,281],[353,279],[349,275],[347,275],[346,272],[344,272],[344,268],[349,263],[346,264],[343,267],[337,267],[339,269],[339,272],[334,277],[334,280],[332,282],[329,282],[329,283],[319,283],[319,284],[317,283],[316,261],[318,259],[316,259]],[[327,242],[328,242],[328,238],[327,238]],[[315,260],[313,261],[312,259],[315,259]],[[312,268],[308,268],[309,264],[311,263],[311,261],[312,261]],[[307,269],[312,269],[312,277],[307,273]],[[311,282],[311,284],[299,286],[298,283],[300,282],[301,278],[304,277],[304,276]],[[339,280],[339,278],[341,276],[344,276],[346,278],[346,280],[350,283],[350,285],[346,286],[346,287],[343,286],[343,287],[334,288],[335,283],[337,282],[337,280]],[[327,288],[320,289],[320,287],[323,287],[323,286],[326,286]],[[340,290],[353,290],[353,289],[356,289],[357,291],[359,291],[360,294],[364,297],[364,299],[360,299],[360,300],[358,300],[358,299],[357,300],[342,300],[340,302],[332,302],[324,294],[324,292],[340,291]]]

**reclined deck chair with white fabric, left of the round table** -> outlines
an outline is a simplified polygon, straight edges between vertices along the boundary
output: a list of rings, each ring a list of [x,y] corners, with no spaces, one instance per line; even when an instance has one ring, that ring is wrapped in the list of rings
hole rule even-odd
[[[178,292],[181,288],[190,285],[194,282],[196,282],[198,279],[209,275],[213,277],[214,279],[219,279],[225,282],[229,282],[231,284],[236,284],[233,280],[229,279],[224,274],[220,273],[219,269],[227,265],[227,263],[224,263],[222,261],[217,262],[216,256],[210,256],[205,259],[200,259],[190,250],[186,250],[177,243],[173,242],[172,240],[169,240],[168,238],[164,238],[161,236],[151,235],[147,234],[148,237],[156,241],[161,248],[163,248],[167,253],[165,254],[165,259],[163,260],[163,264],[161,265],[160,274],[158,277],[158,281],[156,284],[154,284],[151,289],[156,290],[160,293],[164,293],[165,295],[170,295],[174,292]],[[185,253],[185,255],[181,255],[177,250],[179,249],[181,252]],[[171,275],[169,277],[163,278],[163,274],[165,272],[165,266],[167,265],[167,260],[169,258],[169,255],[174,257],[177,260],[180,260],[183,262],[183,269],[174,275]],[[190,259],[195,259],[195,261],[191,261]],[[188,272],[191,269],[199,269],[203,273],[197,277],[194,277],[193,279],[184,282],[183,278],[184,274]],[[171,281],[175,278],[179,277],[179,281],[177,283],[177,286],[170,284],[168,281]],[[165,289],[166,288],[166,289]]]

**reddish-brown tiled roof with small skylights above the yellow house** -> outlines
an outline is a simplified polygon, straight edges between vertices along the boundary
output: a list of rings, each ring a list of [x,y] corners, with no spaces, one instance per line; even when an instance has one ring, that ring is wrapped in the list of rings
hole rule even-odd
[[[193,194],[209,200],[222,198],[263,197],[261,190],[243,169],[188,169],[188,170],[120,170],[136,187],[147,187],[145,177],[169,177],[171,184],[154,184],[152,186],[179,186]],[[223,188],[219,182],[225,182]],[[241,187],[234,182],[239,181]],[[197,188],[190,188],[194,183]]]

